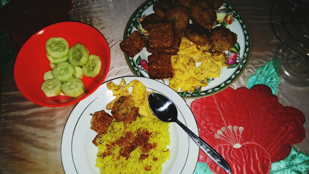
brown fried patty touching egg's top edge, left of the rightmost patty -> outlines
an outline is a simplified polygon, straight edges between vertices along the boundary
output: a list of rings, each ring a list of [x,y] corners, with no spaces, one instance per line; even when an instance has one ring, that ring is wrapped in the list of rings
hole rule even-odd
[[[184,37],[199,46],[209,45],[210,42],[209,30],[198,24],[189,24],[184,31]]]

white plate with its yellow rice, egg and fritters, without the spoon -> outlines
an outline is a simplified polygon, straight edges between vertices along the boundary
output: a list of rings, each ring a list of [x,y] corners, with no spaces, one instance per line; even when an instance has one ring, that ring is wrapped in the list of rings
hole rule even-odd
[[[117,78],[103,83],[71,112],[61,142],[64,171],[192,174],[199,147],[176,123],[152,114],[150,93],[170,98],[178,119],[198,135],[190,108],[173,89],[145,77]]]

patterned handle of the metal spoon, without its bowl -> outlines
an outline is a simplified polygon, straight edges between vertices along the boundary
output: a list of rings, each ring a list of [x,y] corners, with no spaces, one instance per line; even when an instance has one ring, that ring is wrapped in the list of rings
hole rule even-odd
[[[177,124],[180,125],[181,128],[188,133],[188,135],[193,139],[193,141],[220,167],[222,167],[227,173],[231,173],[231,167],[226,162],[226,160],[211,146],[209,146],[205,141],[203,141],[200,137],[195,135],[190,129],[188,129],[184,124],[182,124],[179,120],[176,121]]]

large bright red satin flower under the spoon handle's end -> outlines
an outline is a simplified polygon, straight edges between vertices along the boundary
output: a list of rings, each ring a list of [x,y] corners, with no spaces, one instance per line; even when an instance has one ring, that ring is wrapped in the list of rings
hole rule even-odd
[[[305,117],[294,107],[284,107],[266,85],[234,90],[194,100],[191,110],[199,136],[226,159],[232,173],[269,173],[271,163],[286,158],[291,145],[305,139]],[[224,173],[200,150],[215,174]]]

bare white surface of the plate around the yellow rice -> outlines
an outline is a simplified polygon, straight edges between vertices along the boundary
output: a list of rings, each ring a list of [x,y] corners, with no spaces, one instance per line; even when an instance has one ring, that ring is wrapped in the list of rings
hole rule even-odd
[[[132,80],[139,80],[147,91],[156,91],[170,98],[178,110],[178,120],[198,135],[197,124],[190,108],[180,95],[163,83],[144,77],[123,77],[128,84]],[[119,84],[121,78],[113,81]],[[74,174],[99,174],[99,168],[95,167],[98,148],[92,144],[96,132],[91,130],[90,113],[106,110],[106,105],[115,96],[107,89],[107,82],[102,84],[93,94],[80,101],[71,112],[62,135],[61,159],[64,171]],[[132,87],[129,88],[129,92]],[[199,147],[189,138],[176,123],[170,123],[169,128],[171,144],[167,148],[171,151],[170,159],[162,165],[162,174],[192,174],[197,164]]]

